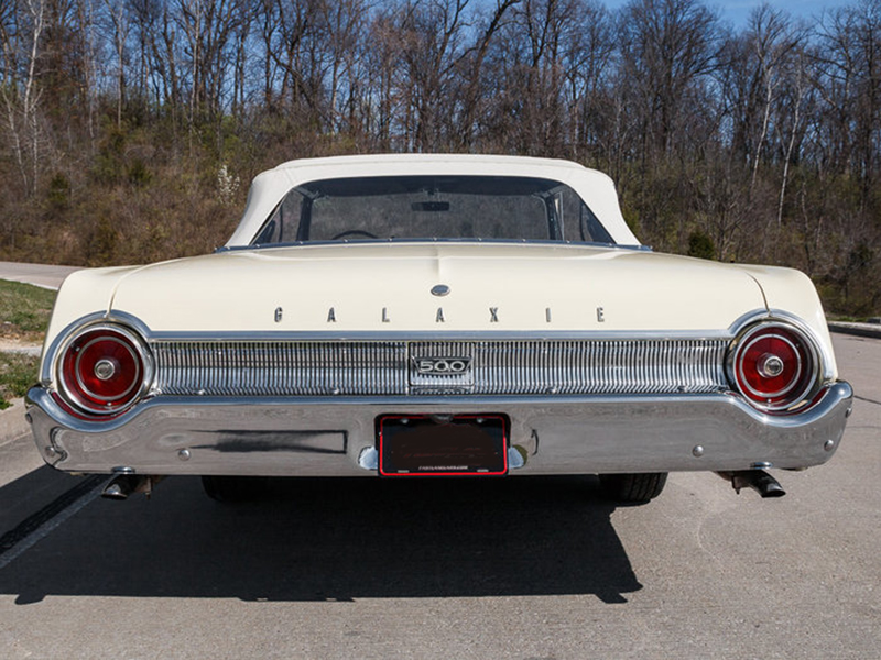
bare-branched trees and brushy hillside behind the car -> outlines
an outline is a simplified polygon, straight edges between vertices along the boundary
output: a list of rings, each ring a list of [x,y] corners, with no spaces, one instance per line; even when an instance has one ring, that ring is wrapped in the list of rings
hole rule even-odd
[[[0,0],[0,257],[205,252],[295,157],[609,173],[656,249],[881,309],[881,0],[735,29],[699,0]]]

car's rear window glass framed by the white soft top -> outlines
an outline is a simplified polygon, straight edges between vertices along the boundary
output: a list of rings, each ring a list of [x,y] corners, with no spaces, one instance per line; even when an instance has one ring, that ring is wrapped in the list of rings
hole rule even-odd
[[[394,176],[297,186],[252,244],[394,239],[613,242],[580,197],[559,182]]]

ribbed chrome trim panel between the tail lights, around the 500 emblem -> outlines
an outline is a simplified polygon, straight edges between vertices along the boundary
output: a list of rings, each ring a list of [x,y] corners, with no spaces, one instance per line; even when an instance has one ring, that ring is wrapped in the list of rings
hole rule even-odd
[[[152,341],[162,396],[672,394],[726,389],[726,340]],[[421,360],[454,360],[426,374]],[[465,366],[467,365],[467,369]]]

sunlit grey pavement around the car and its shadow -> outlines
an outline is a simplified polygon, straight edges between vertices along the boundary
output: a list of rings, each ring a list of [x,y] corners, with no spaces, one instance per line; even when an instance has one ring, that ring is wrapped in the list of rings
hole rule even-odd
[[[302,481],[224,506],[172,479],[0,553],[0,657],[879,658],[881,341],[835,343],[859,399],[830,463],[776,473],[782,499],[674,474],[642,507],[590,477]],[[80,483],[21,437],[0,479],[0,536]]]

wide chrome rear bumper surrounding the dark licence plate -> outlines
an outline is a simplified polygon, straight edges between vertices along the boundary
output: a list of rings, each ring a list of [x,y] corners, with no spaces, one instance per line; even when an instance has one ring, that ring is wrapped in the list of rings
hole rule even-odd
[[[29,418],[46,462],[70,472],[351,476],[387,414],[511,419],[525,457],[512,474],[807,468],[838,448],[852,391],[838,382],[808,410],[764,415],[732,394],[553,397],[157,397],[110,421],[68,415],[42,387]]]

